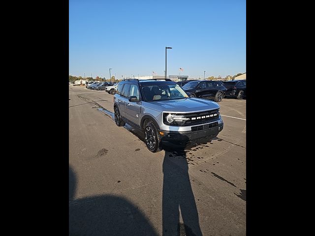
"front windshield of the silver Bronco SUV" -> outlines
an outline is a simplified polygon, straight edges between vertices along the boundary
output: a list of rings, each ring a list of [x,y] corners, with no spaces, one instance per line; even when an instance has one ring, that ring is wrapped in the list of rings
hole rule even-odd
[[[188,98],[187,93],[179,85],[154,85],[142,87],[147,102]]]

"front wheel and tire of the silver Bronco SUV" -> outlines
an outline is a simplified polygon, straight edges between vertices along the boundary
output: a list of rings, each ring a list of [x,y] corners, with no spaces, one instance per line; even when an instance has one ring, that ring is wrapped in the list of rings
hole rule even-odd
[[[161,137],[159,136],[157,127],[152,121],[147,122],[144,127],[143,134],[149,151],[158,152],[162,150]]]

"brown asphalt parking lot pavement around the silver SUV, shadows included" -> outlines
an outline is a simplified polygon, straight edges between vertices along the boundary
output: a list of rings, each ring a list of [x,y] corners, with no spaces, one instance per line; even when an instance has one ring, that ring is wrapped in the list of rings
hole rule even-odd
[[[113,95],[69,86],[69,235],[246,235],[246,100],[184,151],[150,152],[118,127]]]

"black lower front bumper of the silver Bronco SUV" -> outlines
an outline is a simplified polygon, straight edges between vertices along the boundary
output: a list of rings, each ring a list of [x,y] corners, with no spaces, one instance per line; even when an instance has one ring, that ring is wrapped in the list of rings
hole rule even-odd
[[[162,131],[164,132],[164,135],[161,136],[162,144],[166,146],[185,147],[191,143],[198,143],[198,141],[210,141],[222,131],[223,122],[221,124],[214,122],[198,126],[202,130],[194,129],[195,131],[186,132]]]

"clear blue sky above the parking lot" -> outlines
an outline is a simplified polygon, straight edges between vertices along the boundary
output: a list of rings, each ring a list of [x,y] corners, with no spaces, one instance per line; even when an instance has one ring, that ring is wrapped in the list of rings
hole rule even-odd
[[[69,0],[69,74],[246,72],[246,0]]]

